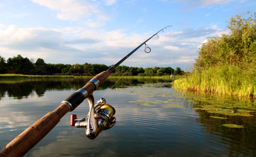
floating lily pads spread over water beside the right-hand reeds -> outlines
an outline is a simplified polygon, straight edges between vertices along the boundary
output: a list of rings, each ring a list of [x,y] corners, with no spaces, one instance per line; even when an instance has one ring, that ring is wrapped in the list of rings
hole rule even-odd
[[[148,83],[127,88],[130,94],[136,94],[147,100],[130,101],[129,103],[144,106],[176,107],[203,110],[210,114],[211,118],[226,119],[224,116],[256,116],[256,101],[240,101],[230,97],[217,95],[192,94],[170,90],[170,83]],[[149,99],[161,99],[149,101]],[[169,98],[169,99],[165,99]]]

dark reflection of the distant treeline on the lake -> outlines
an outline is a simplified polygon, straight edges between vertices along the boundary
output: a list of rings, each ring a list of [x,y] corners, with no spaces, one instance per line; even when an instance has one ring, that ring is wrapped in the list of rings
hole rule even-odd
[[[90,79],[19,79],[0,80],[0,100],[7,93],[14,99],[28,98],[35,91],[38,97],[43,96],[46,90],[77,90],[83,87]],[[118,79],[107,79],[97,90],[104,90],[114,85]],[[130,85],[162,82],[163,79],[122,79],[115,87],[125,88]]]

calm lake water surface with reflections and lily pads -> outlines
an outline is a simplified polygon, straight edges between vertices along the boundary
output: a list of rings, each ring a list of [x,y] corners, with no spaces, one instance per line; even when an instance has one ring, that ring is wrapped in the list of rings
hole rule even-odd
[[[87,81],[0,80],[0,148]],[[94,92],[95,101],[115,81],[108,79],[100,86]],[[253,100],[178,92],[161,79],[121,79],[104,98],[116,109],[113,128],[91,140],[85,128],[69,126],[71,114],[87,117],[85,100],[25,156],[256,157]],[[237,126],[230,128],[230,124]]]

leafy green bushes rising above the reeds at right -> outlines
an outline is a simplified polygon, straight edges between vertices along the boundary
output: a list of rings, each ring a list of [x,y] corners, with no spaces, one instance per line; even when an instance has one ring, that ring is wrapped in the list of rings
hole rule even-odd
[[[230,34],[207,38],[198,51],[194,67],[203,70],[228,64],[256,71],[256,13],[247,19],[232,16],[227,28]]]

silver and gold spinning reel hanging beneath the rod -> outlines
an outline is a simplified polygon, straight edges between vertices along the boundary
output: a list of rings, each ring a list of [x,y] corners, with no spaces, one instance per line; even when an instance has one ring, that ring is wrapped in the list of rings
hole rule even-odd
[[[94,103],[94,96],[88,98],[90,110],[85,118],[76,119],[76,115],[72,114],[70,118],[70,126],[77,128],[86,128],[85,134],[90,139],[95,139],[97,135],[107,129],[112,128],[116,124],[116,118],[113,115],[116,110],[113,106],[106,104],[106,100],[101,98]]]

